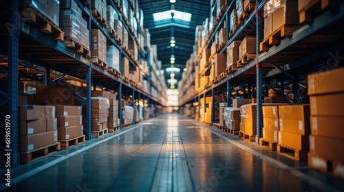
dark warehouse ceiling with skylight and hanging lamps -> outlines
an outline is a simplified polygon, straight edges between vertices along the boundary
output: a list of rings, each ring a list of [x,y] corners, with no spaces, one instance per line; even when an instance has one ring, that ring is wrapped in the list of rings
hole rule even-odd
[[[175,79],[180,80],[186,60],[190,58],[195,44],[195,29],[197,25],[202,25],[203,21],[209,17],[210,1],[206,0],[176,0],[170,3],[169,0],[139,0],[140,9],[144,12],[144,28],[148,28],[151,34],[151,45],[158,47],[158,60],[162,61],[162,69],[171,67],[171,54],[175,56],[175,67],[181,68],[180,73],[175,73]],[[164,11],[175,10],[173,19],[155,22],[153,14]],[[190,13],[191,21],[178,20],[179,13]],[[164,17],[171,13],[165,12]],[[173,32],[171,32],[173,31]],[[175,47],[170,46],[171,36],[175,38]],[[171,77],[165,73],[165,79]]]

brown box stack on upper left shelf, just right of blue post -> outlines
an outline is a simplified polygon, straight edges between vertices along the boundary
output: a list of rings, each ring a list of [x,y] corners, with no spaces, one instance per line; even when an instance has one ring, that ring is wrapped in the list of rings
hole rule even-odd
[[[99,29],[91,29],[91,56],[107,62],[107,38]]]

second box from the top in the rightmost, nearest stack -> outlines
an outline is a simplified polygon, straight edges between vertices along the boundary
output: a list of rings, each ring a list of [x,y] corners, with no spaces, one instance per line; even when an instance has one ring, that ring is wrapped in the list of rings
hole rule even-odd
[[[344,116],[344,93],[310,97],[312,115]]]

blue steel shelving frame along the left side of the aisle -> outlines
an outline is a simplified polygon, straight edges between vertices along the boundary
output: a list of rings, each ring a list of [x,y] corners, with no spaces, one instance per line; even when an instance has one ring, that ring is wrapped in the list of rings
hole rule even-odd
[[[19,123],[17,121],[18,117],[18,84],[19,76],[28,77],[36,79],[42,82],[42,84],[47,85],[50,82],[61,83],[63,77],[73,77],[83,84],[86,84],[86,97],[85,100],[86,107],[86,127],[84,128],[84,134],[86,139],[92,139],[91,133],[91,87],[92,84],[94,88],[103,87],[106,89],[111,89],[117,91],[118,93],[118,117],[121,118],[121,102],[120,99],[125,95],[131,96],[131,105],[135,107],[135,101],[147,101],[149,104],[164,106],[164,101],[162,98],[164,96],[163,90],[160,90],[158,86],[151,82],[149,74],[144,73],[138,63],[130,58],[128,53],[126,53],[120,44],[111,37],[107,29],[100,25],[97,19],[91,13],[91,2],[90,1],[80,1],[74,0],[79,8],[83,11],[83,17],[87,21],[87,28],[89,29],[89,38],[91,38],[91,29],[99,29],[107,37],[107,42],[114,45],[120,51],[120,64],[122,56],[128,58],[130,64],[138,67],[139,73],[142,73],[144,79],[146,79],[154,88],[158,91],[159,97],[154,97],[151,95],[151,91],[145,92],[140,88],[123,81],[120,77],[109,73],[106,69],[98,67],[98,65],[92,63],[83,54],[76,53],[74,49],[66,47],[63,43],[54,40],[51,36],[44,34],[38,28],[28,25],[21,19],[19,0],[10,1],[8,3],[9,9],[2,10],[3,14],[8,14],[8,20],[2,19],[1,22],[9,24],[8,32],[3,39],[8,40],[8,47],[2,47],[0,49],[0,61],[7,62],[6,67],[0,67],[1,71],[7,73],[8,75],[8,93],[0,92],[0,95],[6,97],[7,102],[2,102],[1,106],[7,104],[8,115],[11,116],[11,149],[12,149],[12,167],[19,165]],[[84,4],[85,3],[85,4]],[[107,1],[107,5],[111,5],[118,15],[121,15],[120,10],[114,4],[114,1]],[[6,18],[6,17],[3,17]],[[133,18],[138,20],[136,16]],[[132,34],[129,30],[129,26],[120,18],[123,26],[126,27],[129,33],[129,39],[137,39],[135,34]],[[6,25],[2,25],[3,31],[6,30]],[[138,33],[142,34],[142,27],[138,25]],[[138,41],[136,40],[138,44]],[[20,51],[19,51],[20,50]],[[89,47],[91,50],[91,47]],[[142,46],[138,45],[139,58],[145,60],[147,59],[147,52]],[[139,59],[137,58],[137,59]],[[25,73],[19,73],[19,67],[28,67],[32,70],[44,73],[43,77],[33,77],[32,75],[27,75]],[[54,80],[50,80],[50,75],[55,75]],[[156,74],[155,74],[156,75]],[[79,97],[78,95],[74,95]],[[81,97],[79,97],[81,98]],[[137,106],[139,108],[139,106]],[[144,112],[144,110],[143,110]],[[133,123],[135,123],[133,121]],[[122,122],[120,122],[120,128],[122,128]]]

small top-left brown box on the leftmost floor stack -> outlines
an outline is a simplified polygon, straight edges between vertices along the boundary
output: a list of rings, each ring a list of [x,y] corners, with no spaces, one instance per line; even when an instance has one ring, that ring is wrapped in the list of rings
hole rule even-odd
[[[45,106],[19,106],[20,120],[36,120],[45,118]]]

